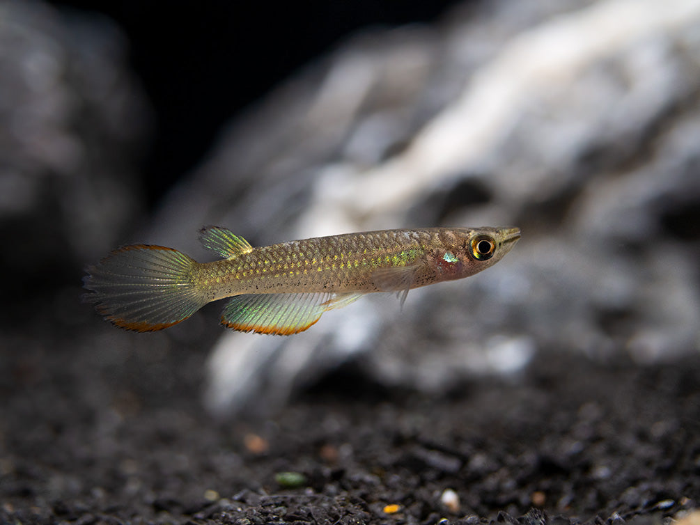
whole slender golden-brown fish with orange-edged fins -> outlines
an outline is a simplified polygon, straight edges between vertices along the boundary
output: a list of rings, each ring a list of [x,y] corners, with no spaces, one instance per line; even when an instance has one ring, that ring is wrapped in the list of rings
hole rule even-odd
[[[231,297],[221,323],[242,332],[290,335],[362,295],[462,279],[494,265],[518,228],[424,228],[316,237],[253,247],[225,228],[200,230],[221,260],[197,262],[148,244],[123,246],[83,279],[89,302],[120,328],[148,332]]]

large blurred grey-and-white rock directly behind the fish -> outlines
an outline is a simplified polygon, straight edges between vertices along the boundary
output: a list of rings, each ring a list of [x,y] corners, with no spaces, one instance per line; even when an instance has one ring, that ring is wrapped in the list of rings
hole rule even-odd
[[[370,296],[304,334],[225,332],[207,402],[257,411],[349,358],[440,391],[549,347],[700,348],[700,4],[489,1],[373,31],[232,125],[144,238],[202,253],[358,230],[518,225],[484,274]]]

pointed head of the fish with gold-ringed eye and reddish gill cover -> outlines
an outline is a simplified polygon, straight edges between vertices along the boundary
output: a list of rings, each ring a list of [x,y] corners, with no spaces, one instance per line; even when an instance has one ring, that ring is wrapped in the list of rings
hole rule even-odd
[[[440,235],[430,263],[441,280],[463,279],[493,266],[520,239],[513,227],[455,228]]]

